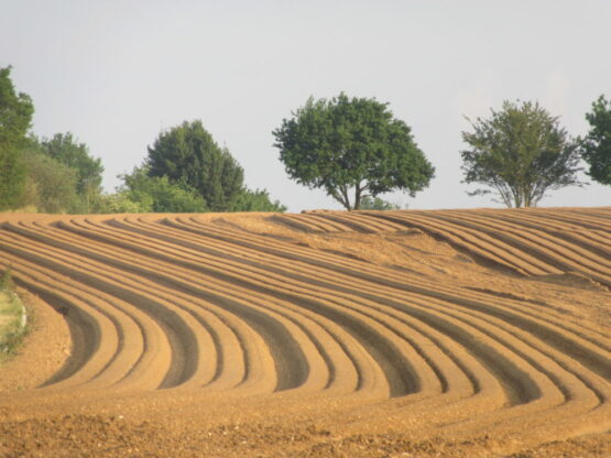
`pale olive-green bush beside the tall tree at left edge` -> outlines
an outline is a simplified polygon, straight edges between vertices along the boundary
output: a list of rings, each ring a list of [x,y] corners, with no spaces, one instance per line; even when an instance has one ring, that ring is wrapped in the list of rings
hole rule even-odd
[[[70,212],[78,208],[77,172],[32,148],[23,150],[28,164],[26,192],[21,206],[35,206],[47,214]]]

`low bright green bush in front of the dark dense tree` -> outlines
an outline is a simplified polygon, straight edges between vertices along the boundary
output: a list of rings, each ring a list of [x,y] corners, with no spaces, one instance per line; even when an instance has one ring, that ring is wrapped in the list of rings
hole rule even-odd
[[[175,183],[167,176],[151,177],[146,166],[135,167],[130,175],[122,175],[129,200],[154,212],[203,212],[206,200],[195,190]]]

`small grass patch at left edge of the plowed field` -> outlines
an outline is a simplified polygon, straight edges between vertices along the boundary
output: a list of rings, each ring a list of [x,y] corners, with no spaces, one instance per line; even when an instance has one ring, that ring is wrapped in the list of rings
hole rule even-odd
[[[7,269],[0,275],[0,364],[17,353],[28,329],[25,308],[13,291]]]

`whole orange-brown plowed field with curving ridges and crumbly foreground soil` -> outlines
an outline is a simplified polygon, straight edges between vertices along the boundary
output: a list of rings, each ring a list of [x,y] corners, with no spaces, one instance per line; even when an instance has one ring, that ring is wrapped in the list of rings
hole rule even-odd
[[[0,215],[0,457],[611,456],[611,207]]]

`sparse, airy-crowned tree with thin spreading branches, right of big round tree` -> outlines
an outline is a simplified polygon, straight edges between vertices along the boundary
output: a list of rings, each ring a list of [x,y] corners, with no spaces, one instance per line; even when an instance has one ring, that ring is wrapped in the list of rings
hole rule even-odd
[[[547,190],[581,185],[577,142],[538,103],[504,101],[489,119],[462,132],[470,149],[461,151],[466,183],[479,183],[470,195],[495,192],[508,207],[530,207]]]

